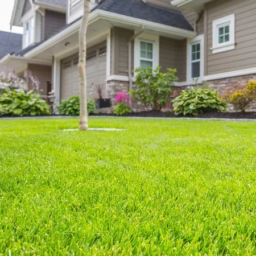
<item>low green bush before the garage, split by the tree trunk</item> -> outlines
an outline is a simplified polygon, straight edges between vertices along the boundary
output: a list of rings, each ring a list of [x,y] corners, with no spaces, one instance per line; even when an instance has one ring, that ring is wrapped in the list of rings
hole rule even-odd
[[[61,115],[79,115],[80,102],[79,96],[72,96],[68,100],[62,100],[57,110]],[[95,101],[92,99],[87,100],[88,114],[96,114]]]

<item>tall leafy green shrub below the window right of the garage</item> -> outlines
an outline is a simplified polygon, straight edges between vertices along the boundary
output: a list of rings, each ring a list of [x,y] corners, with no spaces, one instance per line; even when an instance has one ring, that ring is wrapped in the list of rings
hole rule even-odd
[[[177,81],[176,69],[167,69],[167,73],[160,72],[158,66],[154,71],[152,68],[135,69],[137,76],[135,82],[137,88],[131,90],[135,101],[141,101],[146,108],[160,110],[167,106],[171,95],[171,86]]]

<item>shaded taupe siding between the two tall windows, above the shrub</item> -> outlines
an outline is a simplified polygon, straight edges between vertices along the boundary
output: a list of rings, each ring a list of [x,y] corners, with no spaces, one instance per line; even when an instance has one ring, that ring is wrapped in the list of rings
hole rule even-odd
[[[167,68],[176,68],[177,77],[180,82],[186,80],[186,40],[175,40],[171,38],[159,38],[159,65],[162,72]]]

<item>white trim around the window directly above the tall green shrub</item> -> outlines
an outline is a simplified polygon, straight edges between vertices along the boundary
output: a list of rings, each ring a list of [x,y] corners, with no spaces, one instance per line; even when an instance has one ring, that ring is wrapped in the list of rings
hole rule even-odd
[[[152,69],[155,69],[159,65],[159,36],[142,33],[134,39],[134,69],[141,67],[141,42],[153,44]]]

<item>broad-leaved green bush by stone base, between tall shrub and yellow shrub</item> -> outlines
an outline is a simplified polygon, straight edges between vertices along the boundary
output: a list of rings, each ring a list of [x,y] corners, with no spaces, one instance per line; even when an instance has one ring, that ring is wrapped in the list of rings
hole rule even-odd
[[[224,112],[227,107],[217,91],[210,89],[183,90],[173,102],[176,115],[198,115],[209,111]]]

